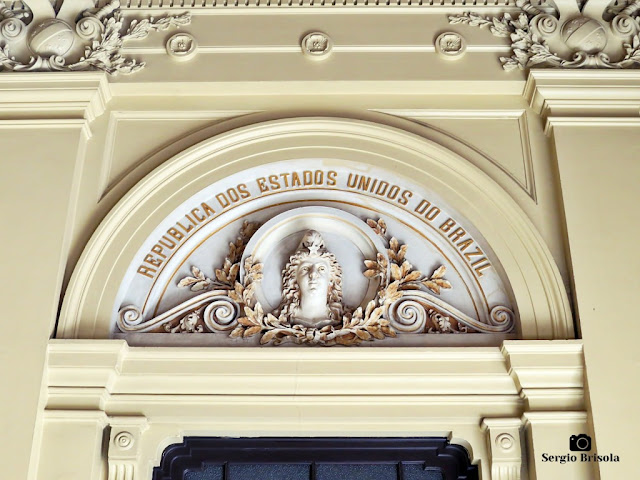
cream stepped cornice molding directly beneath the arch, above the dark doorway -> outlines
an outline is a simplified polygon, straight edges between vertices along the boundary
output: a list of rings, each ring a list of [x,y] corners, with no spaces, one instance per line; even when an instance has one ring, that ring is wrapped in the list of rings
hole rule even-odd
[[[106,390],[102,399],[107,403],[113,395],[141,402],[144,395],[192,400],[211,395],[418,395],[427,403],[454,395],[463,408],[488,399],[516,406],[522,391],[546,388],[554,390],[555,400],[538,406],[548,410],[561,409],[564,397],[569,399],[564,408],[573,408],[584,374],[580,341],[505,341],[501,352],[497,347],[154,348],[129,347],[124,340],[51,340],[48,352],[49,406],[57,409],[70,408],[67,401],[75,404],[78,389],[96,398]],[[85,398],[92,406],[93,400]]]

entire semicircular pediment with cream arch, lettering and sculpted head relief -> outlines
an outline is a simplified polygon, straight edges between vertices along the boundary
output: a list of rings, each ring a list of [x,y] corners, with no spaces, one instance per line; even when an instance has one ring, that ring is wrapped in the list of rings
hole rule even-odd
[[[298,118],[213,137],[134,187],[87,246],[58,336],[392,346],[571,332],[548,250],[476,167],[402,130]]]

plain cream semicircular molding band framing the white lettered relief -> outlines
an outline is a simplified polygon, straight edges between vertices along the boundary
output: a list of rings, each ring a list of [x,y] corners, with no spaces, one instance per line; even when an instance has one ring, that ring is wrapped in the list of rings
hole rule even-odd
[[[57,336],[108,338],[113,301],[155,226],[194,192],[256,165],[342,158],[386,168],[445,198],[499,259],[522,338],[571,338],[558,269],[542,238],[493,180],[441,145],[397,128],[344,118],[292,118],[238,128],[179,153],[141,180],[99,226],[67,289]]]

